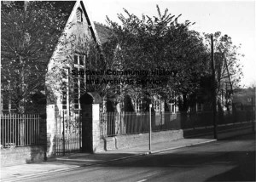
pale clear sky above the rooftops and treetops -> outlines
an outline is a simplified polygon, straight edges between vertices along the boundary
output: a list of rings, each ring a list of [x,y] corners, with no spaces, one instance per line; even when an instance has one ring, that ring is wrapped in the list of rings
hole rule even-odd
[[[110,20],[118,21],[117,14],[129,13],[142,17],[157,15],[156,4],[164,13],[182,14],[179,22],[190,20],[195,22],[191,29],[199,32],[214,33],[221,31],[232,38],[234,44],[241,43],[241,59],[244,77],[241,84],[246,87],[256,86],[256,26],[255,1],[174,1],[174,0],[85,0],[90,18],[93,21],[106,23],[106,15]]]

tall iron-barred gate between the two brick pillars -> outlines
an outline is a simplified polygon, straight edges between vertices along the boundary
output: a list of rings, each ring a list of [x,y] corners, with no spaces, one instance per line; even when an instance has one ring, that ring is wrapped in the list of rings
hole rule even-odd
[[[57,156],[80,152],[82,148],[82,122],[80,111],[55,112],[55,150]]]

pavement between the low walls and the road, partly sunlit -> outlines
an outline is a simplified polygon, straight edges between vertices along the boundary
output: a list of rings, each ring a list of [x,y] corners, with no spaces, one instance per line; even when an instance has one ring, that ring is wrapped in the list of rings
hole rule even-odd
[[[102,153],[87,154],[78,153],[70,156],[58,156],[55,160],[49,162],[38,162],[9,166],[1,168],[1,181],[19,181],[34,178],[50,173],[60,173],[70,171],[75,168],[93,166],[106,162],[119,161],[131,157],[139,157],[148,154],[172,151],[179,148],[200,145],[216,141],[216,139],[177,139],[170,142],[154,143],[152,150],[148,150],[148,145],[132,147],[127,150],[104,151]]]

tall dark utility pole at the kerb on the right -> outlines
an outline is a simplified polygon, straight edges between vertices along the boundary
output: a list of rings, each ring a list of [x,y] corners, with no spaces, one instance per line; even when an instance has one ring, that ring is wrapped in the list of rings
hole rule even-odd
[[[212,110],[213,110],[213,137],[218,139],[216,124],[216,80],[215,80],[215,60],[213,52],[213,36],[211,36],[211,60],[212,60]]]

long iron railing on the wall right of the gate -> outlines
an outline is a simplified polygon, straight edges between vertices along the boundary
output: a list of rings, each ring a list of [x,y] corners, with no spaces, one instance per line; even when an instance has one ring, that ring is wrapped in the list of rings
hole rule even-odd
[[[166,131],[189,128],[212,127],[212,111],[202,112],[160,112],[151,113],[152,131]],[[230,125],[238,122],[255,120],[252,111],[224,111],[218,113],[218,125]],[[149,113],[137,112],[106,112],[101,113],[101,136],[148,133]]]

